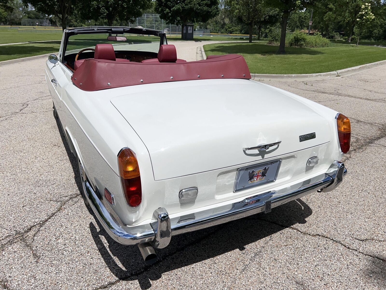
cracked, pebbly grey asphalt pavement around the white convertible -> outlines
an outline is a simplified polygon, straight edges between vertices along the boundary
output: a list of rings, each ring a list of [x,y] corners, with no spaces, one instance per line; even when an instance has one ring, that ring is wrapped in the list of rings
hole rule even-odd
[[[173,237],[146,266],[83,203],[45,61],[0,67],[0,287],[386,289],[386,65],[330,80],[266,81],[350,118],[344,183]]]

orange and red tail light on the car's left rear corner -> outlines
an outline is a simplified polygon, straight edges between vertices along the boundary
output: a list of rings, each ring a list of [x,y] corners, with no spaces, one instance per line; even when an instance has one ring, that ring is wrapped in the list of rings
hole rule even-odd
[[[118,165],[127,204],[132,207],[139,206],[142,201],[142,187],[135,153],[129,148],[122,149],[118,155]]]

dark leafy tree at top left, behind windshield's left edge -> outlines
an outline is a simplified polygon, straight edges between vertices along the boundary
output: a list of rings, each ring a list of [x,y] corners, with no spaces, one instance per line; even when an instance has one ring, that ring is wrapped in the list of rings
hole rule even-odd
[[[62,29],[66,29],[66,21],[73,12],[73,0],[22,0],[25,7],[31,4],[37,12],[58,17]]]

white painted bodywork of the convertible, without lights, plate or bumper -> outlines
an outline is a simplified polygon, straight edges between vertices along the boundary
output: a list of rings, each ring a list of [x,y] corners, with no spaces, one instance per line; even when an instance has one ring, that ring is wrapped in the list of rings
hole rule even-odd
[[[241,79],[189,80],[86,92],[72,84],[71,76],[72,72],[63,63],[53,65],[47,61],[47,85],[70,148],[80,157],[99,198],[104,201],[104,188],[114,195],[115,205],[107,204],[107,208],[128,227],[149,223],[159,207],[165,207],[172,217],[203,208],[215,212],[218,205],[231,204],[272,188],[284,188],[295,181],[307,181],[343,156],[337,142],[336,111],[266,84]],[[122,109],[130,104],[137,111]],[[191,134],[183,131],[183,122],[178,122],[185,117],[186,106],[196,118],[200,116],[196,123],[185,125]],[[264,111],[259,111],[261,106]],[[293,116],[293,111],[286,111],[286,107],[298,116],[286,121],[285,116]],[[263,116],[262,125],[250,128],[249,124],[260,121],[259,114]],[[277,119],[280,114],[283,116]],[[296,126],[296,121],[306,118],[312,120]],[[244,123],[247,130],[240,133],[237,128],[244,128]],[[317,132],[317,138],[299,142],[299,135],[312,132]],[[260,133],[263,133],[261,138]],[[200,141],[199,146],[192,144],[192,140]],[[249,156],[242,150],[277,140],[286,143],[279,145],[273,154]],[[173,150],[161,154],[160,149],[167,147],[168,142],[171,148],[180,150],[175,158]],[[219,144],[231,147],[216,149]],[[124,147],[135,152],[141,172],[142,203],[136,208],[127,205],[120,184],[117,155]],[[306,161],[313,156],[318,156],[320,162],[308,168]],[[275,183],[234,193],[240,167],[276,159],[282,163]],[[154,161],[157,164],[152,164]],[[190,187],[198,188],[196,200],[180,203],[179,191]]]

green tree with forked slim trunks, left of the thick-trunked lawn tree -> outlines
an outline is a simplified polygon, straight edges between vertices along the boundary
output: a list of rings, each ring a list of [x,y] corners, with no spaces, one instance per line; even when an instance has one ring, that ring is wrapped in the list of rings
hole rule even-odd
[[[260,39],[262,26],[276,20],[275,10],[267,7],[264,0],[230,0],[229,7],[242,22],[248,25],[250,43],[255,25],[258,29],[258,39]]]

